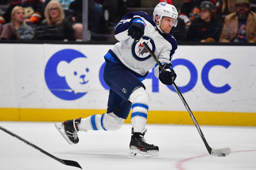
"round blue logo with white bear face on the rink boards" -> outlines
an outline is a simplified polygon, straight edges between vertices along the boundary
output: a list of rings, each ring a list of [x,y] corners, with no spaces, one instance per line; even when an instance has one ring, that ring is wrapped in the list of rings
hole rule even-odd
[[[90,85],[87,57],[74,49],[63,49],[51,56],[45,71],[49,90],[63,100],[76,100],[84,96]]]

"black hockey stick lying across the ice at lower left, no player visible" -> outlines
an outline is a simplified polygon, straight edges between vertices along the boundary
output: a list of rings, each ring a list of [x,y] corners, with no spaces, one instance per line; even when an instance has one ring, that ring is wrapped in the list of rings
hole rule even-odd
[[[23,139],[22,137],[19,137],[18,135],[12,133],[11,131],[3,128],[2,126],[0,126],[0,129],[3,130],[4,132],[8,133],[9,135],[15,137],[16,139],[19,139],[20,141],[24,142],[25,144],[31,146],[32,148],[36,149],[37,151],[40,151],[40,152],[44,153],[45,155],[47,155],[47,156],[49,156],[49,157],[59,161],[60,163],[62,163],[64,165],[76,166],[76,167],[82,169],[82,167],[76,161],[73,161],[73,160],[63,160],[63,159],[57,158],[57,157],[53,156],[52,154],[50,154],[50,153],[44,151],[43,149],[39,148],[38,146],[28,142],[27,140]]]

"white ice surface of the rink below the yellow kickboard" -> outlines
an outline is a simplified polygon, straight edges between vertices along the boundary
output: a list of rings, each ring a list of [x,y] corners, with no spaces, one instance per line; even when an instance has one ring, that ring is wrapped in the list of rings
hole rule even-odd
[[[70,145],[53,122],[0,122],[52,155],[77,161],[86,170],[256,170],[256,127],[200,126],[213,149],[231,148],[226,157],[208,154],[194,125],[148,124],[146,142],[159,147],[157,159],[129,159],[131,124],[117,131],[79,132]],[[78,170],[44,155],[0,130],[0,170]]]

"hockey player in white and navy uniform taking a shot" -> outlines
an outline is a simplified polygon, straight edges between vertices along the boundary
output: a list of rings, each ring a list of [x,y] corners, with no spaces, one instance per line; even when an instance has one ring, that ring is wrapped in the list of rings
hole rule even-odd
[[[172,85],[176,74],[171,59],[177,49],[177,42],[170,34],[177,25],[178,12],[173,5],[161,2],[156,5],[153,19],[149,14],[138,11],[125,15],[116,25],[118,41],[104,56],[105,83],[110,87],[107,113],[87,118],[55,123],[56,128],[69,144],[78,143],[79,130],[117,130],[127,118],[131,108],[132,137],[129,158],[158,158],[158,146],[148,144],[144,135],[149,108],[149,94],[141,82],[148,70],[165,85]],[[153,57],[138,40],[143,38],[165,69],[161,71]]]

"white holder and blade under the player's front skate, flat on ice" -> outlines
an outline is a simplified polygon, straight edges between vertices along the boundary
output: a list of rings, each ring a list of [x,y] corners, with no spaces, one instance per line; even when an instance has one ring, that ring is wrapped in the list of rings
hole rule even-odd
[[[158,151],[142,152],[139,149],[131,149],[128,158],[131,159],[156,159],[159,157]]]

